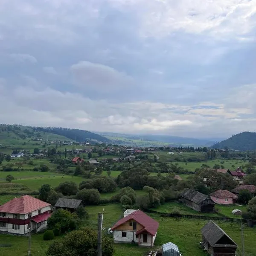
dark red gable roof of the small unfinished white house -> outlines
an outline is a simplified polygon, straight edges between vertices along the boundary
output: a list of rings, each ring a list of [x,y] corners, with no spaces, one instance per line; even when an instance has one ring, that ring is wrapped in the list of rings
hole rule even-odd
[[[152,236],[156,235],[157,229],[159,227],[159,223],[154,219],[150,218],[141,210],[132,212],[131,214],[127,215],[125,218],[120,219],[119,221],[116,222],[116,224],[113,225],[113,227],[111,227],[111,230],[115,230],[117,227],[119,227],[120,225],[130,220],[134,220],[143,226],[143,229],[138,230],[136,232],[136,235],[139,235],[144,231],[150,233]]]

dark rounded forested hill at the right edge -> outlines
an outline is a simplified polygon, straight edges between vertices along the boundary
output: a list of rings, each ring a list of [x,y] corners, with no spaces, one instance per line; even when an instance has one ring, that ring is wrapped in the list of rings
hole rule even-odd
[[[242,132],[233,135],[227,140],[212,145],[211,148],[229,148],[238,149],[241,151],[256,150],[256,133],[255,132]]]

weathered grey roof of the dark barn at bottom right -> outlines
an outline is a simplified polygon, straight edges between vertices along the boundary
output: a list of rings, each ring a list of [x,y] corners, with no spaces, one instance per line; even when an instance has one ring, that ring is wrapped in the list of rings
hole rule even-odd
[[[236,243],[230,238],[230,236],[225,233],[215,222],[209,221],[202,229],[202,235],[207,239],[211,246],[218,244],[218,241],[223,237],[226,236],[229,240],[231,245],[230,247],[237,247]]]

